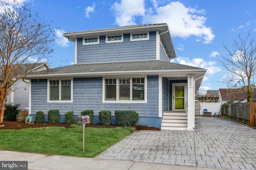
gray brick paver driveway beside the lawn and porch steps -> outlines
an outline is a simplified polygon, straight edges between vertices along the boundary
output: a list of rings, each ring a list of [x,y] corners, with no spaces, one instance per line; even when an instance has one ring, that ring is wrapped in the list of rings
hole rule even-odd
[[[137,131],[98,158],[208,168],[256,169],[256,130],[220,117],[196,117],[195,131]]]

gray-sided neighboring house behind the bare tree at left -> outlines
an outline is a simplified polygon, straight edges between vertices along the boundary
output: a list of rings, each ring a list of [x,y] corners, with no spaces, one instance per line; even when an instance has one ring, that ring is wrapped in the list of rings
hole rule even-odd
[[[23,64],[27,67],[32,64]],[[32,72],[50,69],[47,63],[36,63]],[[20,70],[22,71],[22,69]],[[29,104],[29,80],[17,80],[11,87],[10,93],[6,98],[6,103],[20,104],[19,109],[25,109]]]

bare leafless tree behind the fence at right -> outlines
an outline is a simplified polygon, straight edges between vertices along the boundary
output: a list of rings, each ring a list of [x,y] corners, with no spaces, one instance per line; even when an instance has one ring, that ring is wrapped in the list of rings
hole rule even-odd
[[[255,88],[254,78],[256,75],[256,41],[250,39],[250,31],[242,38],[238,35],[238,41],[233,42],[232,49],[226,45],[227,56],[222,56],[220,61],[231,77],[222,82],[228,83],[229,87],[237,88],[247,94],[247,102],[252,102],[252,92]]]

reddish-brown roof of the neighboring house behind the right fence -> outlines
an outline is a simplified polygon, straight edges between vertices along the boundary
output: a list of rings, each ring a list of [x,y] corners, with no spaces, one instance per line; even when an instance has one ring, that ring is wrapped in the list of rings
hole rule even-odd
[[[236,100],[244,100],[247,99],[247,94],[244,92],[242,88],[220,88],[220,96],[222,100],[224,99],[236,99]],[[256,99],[256,90],[252,92],[252,98]]]

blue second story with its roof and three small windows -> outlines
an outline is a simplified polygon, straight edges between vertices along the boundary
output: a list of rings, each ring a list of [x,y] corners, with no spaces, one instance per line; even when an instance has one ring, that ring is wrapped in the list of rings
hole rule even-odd
[[[63,36],[75,42],[75,64],[176,58],[165,23],[78,31]]]

